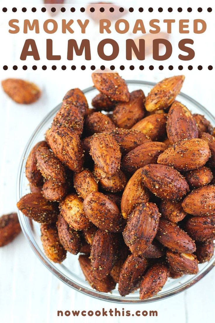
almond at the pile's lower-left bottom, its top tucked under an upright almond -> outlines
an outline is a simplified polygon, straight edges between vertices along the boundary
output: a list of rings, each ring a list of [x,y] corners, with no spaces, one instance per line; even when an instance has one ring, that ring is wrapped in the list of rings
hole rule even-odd
[[[86,280],[93,289],[96,289],[99,292],[108,293],[115,288],[116,283],[113,281],[110,275],[102,279],[95,277],[88,255],[80,255],[78,260]]]

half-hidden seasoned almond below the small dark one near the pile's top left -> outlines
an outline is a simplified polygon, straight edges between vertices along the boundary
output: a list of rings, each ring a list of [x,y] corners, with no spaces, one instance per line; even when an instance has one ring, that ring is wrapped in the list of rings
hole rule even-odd
[[[113,121],[102,112],[93,112],[85,120],[85,129],[90,135],[114,129],[115,127]]]

